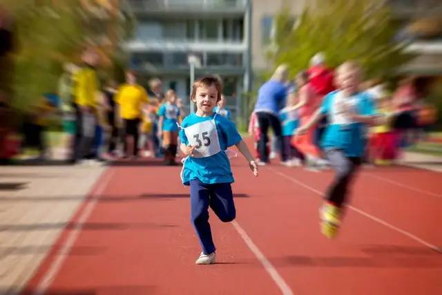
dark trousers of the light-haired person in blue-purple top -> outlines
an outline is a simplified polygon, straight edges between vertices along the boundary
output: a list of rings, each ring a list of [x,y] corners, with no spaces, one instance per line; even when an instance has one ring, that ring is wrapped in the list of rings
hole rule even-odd
[[[269,132],[269,127],[271,126],[271,129],[273,130],[273,133],[277,139],[277,144],[279,148],[278,150],[281,151],[282,150],[281,122],[276,115],[273,115],[271,113],[257,112],[256,115],[258,116],[258,124],[260,125],[260,130],[261,130],[261,138],[258,144],[260,160],[262,162],[269,162],[269,156],[267,155],[266,152],[267,142],[269,142],[269,136],[267,135],[267,133]],[[282,160],[282,153],[281,153],[281,160]]]

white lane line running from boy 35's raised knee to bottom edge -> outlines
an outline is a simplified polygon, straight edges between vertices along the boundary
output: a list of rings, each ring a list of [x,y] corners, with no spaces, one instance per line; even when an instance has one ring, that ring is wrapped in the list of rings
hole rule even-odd
[[[252,253],[255,254],[256,258],[258,258],[258,260],[260,261],[260,263],[264,267],[267,274],[269,274],[269,276],[271,276],[271,278],[276,283],[276,285],[278,285],[282,294],[283,295],[294,295],[293,292],[291,291],[289,285],[287,285],[287,283],[285,283],[285,280],[278,273],[276,268],[270,263],[270,261],[265,257],[265,255],[262,254],[262,251],[258,248],[258,246],[256,246],[256,244],[253,242],[253,240],[251,240],[251,238],[246,233],[246,231],[244,231],[244,229],[242,229],[240,224],[236,220],[233,220],[231,222],[231,224],[233,225],[233,227],[235,227],[236,231],[238,231],[238,234],[240,234],[242,240],[244,240],[247,247],[249,247],[250,251],[252,251]]]

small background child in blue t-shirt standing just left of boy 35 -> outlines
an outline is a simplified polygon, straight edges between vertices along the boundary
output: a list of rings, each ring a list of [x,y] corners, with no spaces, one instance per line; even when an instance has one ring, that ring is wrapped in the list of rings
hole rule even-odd
[[[163,139],[164,164],[175,166],[180,108],[177,106],[177,94],[172,89],[166,92],[165,99],[166,103],[158,110],[158,137]]]

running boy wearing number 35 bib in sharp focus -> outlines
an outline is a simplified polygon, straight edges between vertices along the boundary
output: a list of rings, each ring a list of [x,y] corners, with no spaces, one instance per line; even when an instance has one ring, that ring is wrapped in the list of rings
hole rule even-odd
[[[236,145],[258,176],[258,166],[242,140],[235,124],[213,112],[221,99],[221,84],[215,77],[198,79],[192,87],[191,99],[197,111],[182,122],[180,149],[186,159],[181,172],[184,185],[191,189],[191,220],[200,240],[202,253],[198,265],[215,263],[215,245],[209,225],[209,207],[222,220],[235,219],[229,158],[225,151]]]

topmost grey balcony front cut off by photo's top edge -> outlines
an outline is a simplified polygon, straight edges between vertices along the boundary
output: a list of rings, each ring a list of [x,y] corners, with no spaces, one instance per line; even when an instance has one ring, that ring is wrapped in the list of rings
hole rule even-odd
[[[249,0],[129,0],[135,15],[243,14]]]

